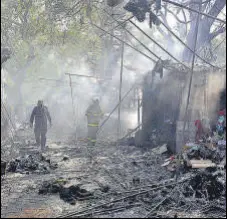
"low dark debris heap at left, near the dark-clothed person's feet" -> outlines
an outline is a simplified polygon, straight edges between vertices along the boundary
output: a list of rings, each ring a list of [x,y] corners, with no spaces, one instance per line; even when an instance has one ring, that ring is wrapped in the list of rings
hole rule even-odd
[[[56,169],[56,163],[51,163],[50,159],[45,158],[42,154],[25,155],[11,160],[7,165],[8,172],[25,173],[29,172],[47,174],[51,169]]]

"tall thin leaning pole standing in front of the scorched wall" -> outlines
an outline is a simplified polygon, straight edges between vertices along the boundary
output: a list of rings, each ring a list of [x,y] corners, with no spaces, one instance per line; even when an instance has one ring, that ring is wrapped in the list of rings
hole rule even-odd
[[[199,4],[199,11],[201,11],[201,2]],[[184,115],[184,127],[183,127],[183,141],[185,142],[185,126],[186,126],[186,117],[188,113],[188,106],[189,106],[189,101],[190,101],[190,95],[191,95],[191,89],[192,89],[192,79],[193,79],[193,74],[194,74],[194,65],[195,65],[195,51],[196,51],[196,45],[197,45],[197,38],[198,38],[198,30],[199,30],[199,21],[200,21],[200,16],[201,14],[197,15],[197,21],[196,21],[196,30],[195,30],[195,43],[194,43],[194,53],[192,57],[192,67],[191,67],[191,75],[190,75],[190,82],[189,82],[189,90],[188,90],[188,97],[187,97],[187,104],[186,104],[186,110],[185,110],[185,115]]]

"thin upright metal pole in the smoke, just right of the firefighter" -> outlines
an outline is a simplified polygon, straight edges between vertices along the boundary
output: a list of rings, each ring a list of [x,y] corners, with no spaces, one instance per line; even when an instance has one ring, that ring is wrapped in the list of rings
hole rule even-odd
[[[124,43],[122,43],[122,48],[121,48],[121,71],[120,71],[120,85],[119,85],[118,128],[117,128],[118,139],[120,138],[120,134],[121,134],[121,90],[122,90],[123,66],[124,66]]]

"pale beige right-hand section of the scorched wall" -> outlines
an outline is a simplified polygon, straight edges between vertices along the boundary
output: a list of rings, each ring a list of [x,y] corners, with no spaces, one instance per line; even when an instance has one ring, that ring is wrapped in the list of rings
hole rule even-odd
[[[180,152],[186,141],[194,142],[197,119],[206,118],[210,126],[215,125],[219,110],[220,93],[226,86],[225,71],[195,71],[189,100],[188,115],[186,115],[185,140],[183,140],[183,124],[188,96],[189,74],[185,81],[186,87],[182,93],[182,104],[176,128],[176,152]]]

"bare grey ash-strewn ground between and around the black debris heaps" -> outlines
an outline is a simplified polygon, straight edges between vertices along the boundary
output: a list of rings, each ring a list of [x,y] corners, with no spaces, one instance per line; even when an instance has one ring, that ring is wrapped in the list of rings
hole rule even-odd
[[[34,142],[31,133],[20,135],[19,140]],[[165,178],[170,178],[170,173],[164,168],[157,169],[157,164],[163,162],[160,157],[155,157],[149,152],[143,152],[133,146],[116,146],[108,143],[97,143],[93,153],[95,163],[91,164],[87,153],[87,144],[78,141],[76,144],[59,142],[48,139],[48,150],[45,155],[58,164],[56,170],[50,174],[20,174],[7,173],[1,187],[1,217],[58,217],[71,211],[82,210],[91,205],[113,199],[109,196],[99,195],[96,199],[77,201],[70,205],[59,198],[59,195],[39,195],[38,189],[44,180],[63,177],[69,180],[69,185],[83,184],[89,191],[95,191],[99,185],[108,185],[110,192],[123,192],[135,187],[133,178],[137,177],[140,184],[147,185]],[[19,155],[33,154],[38,149],[33,146],[20,147]],[[63,161],[64,155],[69,160]],[[155,160],[154,160],[155,159]],[[157,163],[157,164],[156,164]],[[154,166],[155,164],[155,166]],[[162,169],[162,172],[160,172]],[[114,197],[116,198],[116,196]],[[146,209],[133,206],[126,211],[114,212],[108,217],[142,217]],[[94,217],[101,217],[94,215]]]

